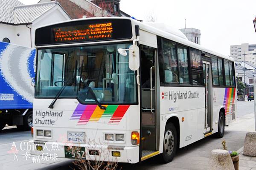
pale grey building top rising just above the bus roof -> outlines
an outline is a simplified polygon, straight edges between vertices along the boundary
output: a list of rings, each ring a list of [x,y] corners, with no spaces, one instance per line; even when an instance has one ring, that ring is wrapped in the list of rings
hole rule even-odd
[[[182,28],[180,29],[186,35],[189,41],[195,42],[200,45],[201,31],[195,28]]]

